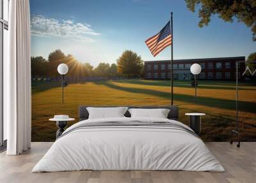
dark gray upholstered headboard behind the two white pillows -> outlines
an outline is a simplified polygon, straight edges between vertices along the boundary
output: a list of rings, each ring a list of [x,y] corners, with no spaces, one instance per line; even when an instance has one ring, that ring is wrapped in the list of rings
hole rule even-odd
[[[119,107],[119,106],[79,106],[79,121],[87,120],[89,113],[86,107]],[[122,106],[123,107],[123,106]],[[179,107],[178,106],[127,106],[129,108],[144,108],[144,109],[170,109],[168,119],[178,120],[179,119]],[[127,110],[125,113],[126,117],[131,117],[131,114]]]

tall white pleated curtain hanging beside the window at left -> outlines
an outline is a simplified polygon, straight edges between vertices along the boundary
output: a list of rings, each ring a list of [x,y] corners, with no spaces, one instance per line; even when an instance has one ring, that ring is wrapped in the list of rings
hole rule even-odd
[[[4,70],[7,152],[18,155],[31,145],[31,61],[29,0],[11,0],[9,48]]]

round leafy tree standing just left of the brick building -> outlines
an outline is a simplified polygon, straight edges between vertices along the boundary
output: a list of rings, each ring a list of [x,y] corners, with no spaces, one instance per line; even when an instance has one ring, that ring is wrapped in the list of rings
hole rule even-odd
[[[143,70],[143,61],[136,52],[124,51],[117,60],[118,74],[127,77],[140,77]]]

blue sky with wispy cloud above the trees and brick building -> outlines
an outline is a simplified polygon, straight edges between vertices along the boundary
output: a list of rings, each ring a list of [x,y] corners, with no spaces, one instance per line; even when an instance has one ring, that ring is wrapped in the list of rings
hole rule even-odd
[[[115,63],[126,49],[147,60],[170,59],[170,47],[155,58],[145,40],[155,35],[173,12],[173,58],[248,56],[256,51],[250,28],[212,17],[199,28],[198,13],[177,0],[31,0],[31,55],[47,59],[61,49],[97,66]]]

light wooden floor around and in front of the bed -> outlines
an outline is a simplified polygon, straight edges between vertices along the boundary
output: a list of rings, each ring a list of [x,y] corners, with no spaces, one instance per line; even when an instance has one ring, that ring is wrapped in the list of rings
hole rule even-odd
[[[256,142],[206,143],[225,172],[195,171],[65,171],[31,173],[52,143],[32,143],[31,150],[17,156],[0,154],[0,182],[256,182]]]

